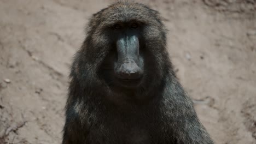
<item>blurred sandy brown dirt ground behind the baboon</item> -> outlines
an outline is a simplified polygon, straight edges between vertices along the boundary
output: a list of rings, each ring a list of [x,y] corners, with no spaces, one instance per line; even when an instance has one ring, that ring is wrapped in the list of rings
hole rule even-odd
[[[113,1],[0,1],[0,143],[61,143],[69,66],[91,14]],[[216,143],[256,143],[256,1],[143,1]]]

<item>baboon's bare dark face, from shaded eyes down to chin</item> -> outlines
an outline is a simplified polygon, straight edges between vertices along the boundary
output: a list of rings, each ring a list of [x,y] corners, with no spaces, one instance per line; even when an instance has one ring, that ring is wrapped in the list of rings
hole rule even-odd
[[[142,28],[138,21],[113,25],[113,41],[107,58],[112,57],[114,81],[124,87],[137,87],[143,78]]]

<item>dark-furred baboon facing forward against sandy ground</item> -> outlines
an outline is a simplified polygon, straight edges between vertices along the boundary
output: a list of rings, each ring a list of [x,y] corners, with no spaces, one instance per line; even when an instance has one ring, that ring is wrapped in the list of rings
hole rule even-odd
[[[158,11],[115,2],[74,57],[62,144],[213,143],[173,72]]]

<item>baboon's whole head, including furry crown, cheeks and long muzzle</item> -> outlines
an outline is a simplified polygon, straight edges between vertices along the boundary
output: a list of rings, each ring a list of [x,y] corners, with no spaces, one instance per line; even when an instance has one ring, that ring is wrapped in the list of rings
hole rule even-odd
[[[98,71],[109,86],[137,88],[158,75],[154,70],[159,69],[165,33],[156,11],[120,3],[94,16],[90,23],[96,26],[89,29],[92,45],[105,54]]]

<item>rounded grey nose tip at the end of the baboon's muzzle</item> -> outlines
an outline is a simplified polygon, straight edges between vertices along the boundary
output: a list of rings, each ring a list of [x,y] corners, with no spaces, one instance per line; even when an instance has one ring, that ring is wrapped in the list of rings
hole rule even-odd
[[[132,59],[127,59],[123,64],[121,64],[118,69],[118,75],[120,79],[139,79],[142,77],[143,71],[138,67],[135,61]]]

